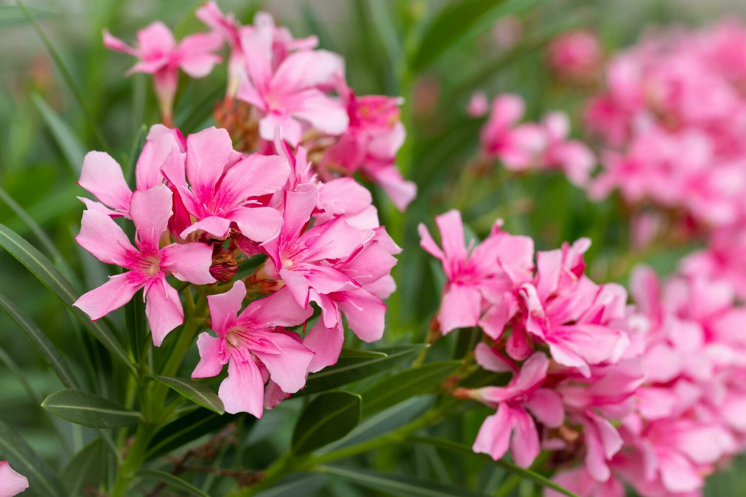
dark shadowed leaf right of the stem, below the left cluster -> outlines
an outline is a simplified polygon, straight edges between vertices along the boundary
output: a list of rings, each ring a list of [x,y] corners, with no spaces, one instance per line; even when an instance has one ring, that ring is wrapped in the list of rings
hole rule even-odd
[[[237,419],[238,415],[236,414],[223,414],[221,416],[204,408],[195,409],[195,411],[160,428],[151,440],[150,446],[148,446],[148,454],[145,459],[151,460],[168,454],[189,442],[197,440],[199,437],[219,430]],[[256,421],[255,417],[244,417],[243,419],[244,425]]]

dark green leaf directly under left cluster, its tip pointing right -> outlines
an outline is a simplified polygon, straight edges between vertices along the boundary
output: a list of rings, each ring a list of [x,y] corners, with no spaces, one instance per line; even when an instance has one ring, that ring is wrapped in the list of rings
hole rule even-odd
[[[295,396],[330,390],[390,370],[404,361],[414,358],[428,346],[427,344],[402,345],[365,351],[367,353],[362,356],[357,355],[359,353],[357,351],[355,355],[340,355],[339,361],[333,366],[327,367],[319,373],[308,375],[306,387],[296,393]],[[377,353],[370,355],[370,352]],[[381,353],[385,355],[380,355]]]

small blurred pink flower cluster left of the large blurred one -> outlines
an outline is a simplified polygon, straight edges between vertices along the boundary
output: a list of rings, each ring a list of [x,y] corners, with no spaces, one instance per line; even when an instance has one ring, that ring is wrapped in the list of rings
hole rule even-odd
[[[480,115],[486,107],[476,94],[468,112]],[[539,123],[518,121],[524,115],[524,101],[517,95],[497,95],[489,118],[480,132],[484,159],[498,159],[510,171],[560,170],[576,185],[584,185],[595,165],[595,156],[582,142],[568,139],[567,115],[552,112]]]

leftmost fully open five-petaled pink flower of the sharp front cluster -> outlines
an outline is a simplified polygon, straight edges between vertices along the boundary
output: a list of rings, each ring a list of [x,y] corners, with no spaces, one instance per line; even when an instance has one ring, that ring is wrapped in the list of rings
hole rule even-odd
[[[75,240],[99,261],[128,271],[110,276],[108,282],[82,295],[73,305],[81,308],[92,320],[97,320],[124,306],[143,288],[145,314],[153,343],[160,346],[172,329],[184,323],[181,299],[166,282],[166,276],[171,274],[195,285],[216,281],[210,275],[212,247],[188,243],[160,248],[160,237],[166,231],[172,213],[172,193],[166,186],[135,191],[129,217],[137,229],[136,249],[108,215],[95,210],[85,211],[81,232]]]

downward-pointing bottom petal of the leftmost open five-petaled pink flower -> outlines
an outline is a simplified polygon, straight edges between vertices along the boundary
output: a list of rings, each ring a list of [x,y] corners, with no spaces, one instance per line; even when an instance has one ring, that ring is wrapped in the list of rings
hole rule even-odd
[[[155,346],[160,346],[172,329],[184,323],[181,298],[176,288],[166,282],[163,273],[151,279],[145,288],[145,315]]]

